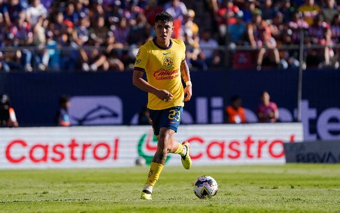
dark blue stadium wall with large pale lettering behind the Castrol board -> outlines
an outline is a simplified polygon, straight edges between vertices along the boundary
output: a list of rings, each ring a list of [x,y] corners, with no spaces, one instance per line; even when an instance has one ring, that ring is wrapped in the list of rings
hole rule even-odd
[[[193,71],[193,97],[182,123],[222,123],[231,96],[242,97],[249,122],[257,122],[259,93],[269,91],[279,107],[280,122],[295,122],[296,70]],[[304,139],[340,139],[340,72],[303,72]],[[61,94],[72,96],[73,125],[136,124],[147,94],[132,85],[132,72],[63,72],[0,74],[0,92],[10,95],[20,126],[51,126]],[[107,107],[106,107],[107,106]],[[90,113],[92,112],[92,114]]]

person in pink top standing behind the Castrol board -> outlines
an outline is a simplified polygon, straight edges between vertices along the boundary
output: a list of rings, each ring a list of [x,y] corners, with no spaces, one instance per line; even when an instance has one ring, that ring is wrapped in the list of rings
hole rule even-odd
[[[279,111],[274,102],[270,101],[268,91],[260,93],[261,103],[257,106],[256,115],[259,122],[276,122],[279,117]]]

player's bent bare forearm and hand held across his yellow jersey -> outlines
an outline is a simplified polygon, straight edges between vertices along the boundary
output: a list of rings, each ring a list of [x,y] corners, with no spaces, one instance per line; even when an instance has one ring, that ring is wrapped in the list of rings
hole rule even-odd
[[[132,83],[142,91],[150,92],[156,95],[159,99],[163,101],[170,101],[173,98],[173,95],[166,90],[159,90],[153,85],[149,84],[146,80],[143,79],[143,72],[139,70],[134,70],[132,76]]]

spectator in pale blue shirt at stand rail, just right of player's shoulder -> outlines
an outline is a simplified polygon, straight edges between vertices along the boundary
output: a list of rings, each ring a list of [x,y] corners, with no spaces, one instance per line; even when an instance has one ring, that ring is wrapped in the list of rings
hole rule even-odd
[[[210,67],[217,67],[220,65],[221,58],[219,55],[219,44],[211,37],[209,30],[204,30],[200,36],[200,48],[205,57],[205,63]]]

